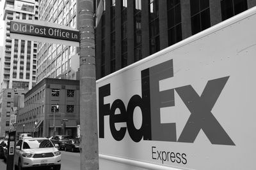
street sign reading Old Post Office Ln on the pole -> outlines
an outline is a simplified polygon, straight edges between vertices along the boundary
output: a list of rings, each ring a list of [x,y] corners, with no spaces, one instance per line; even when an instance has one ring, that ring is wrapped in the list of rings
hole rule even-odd
[[[10,37],[30,41],[44,41],[79,46],[80,34],[76,29],[36,20],[12,20]]]

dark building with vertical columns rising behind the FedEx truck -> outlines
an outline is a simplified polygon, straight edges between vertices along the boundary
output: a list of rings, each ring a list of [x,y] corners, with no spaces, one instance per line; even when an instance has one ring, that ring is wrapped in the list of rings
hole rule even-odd
[[[255,5],[255,0],[104,0],[95,39],[97,79]]]

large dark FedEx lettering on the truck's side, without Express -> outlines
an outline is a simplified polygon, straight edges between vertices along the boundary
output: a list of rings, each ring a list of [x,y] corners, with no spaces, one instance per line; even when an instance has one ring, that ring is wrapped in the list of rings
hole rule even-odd
[[[110,131],[116,141],[122,140],[128,131],[134,142],[143,138],[151,141],[193,143],[202,129],[214,145],[235,145],[211,112],[229,76],[209,80],[201,96],[191,85],[159,91],[159,81],[170,77],[173,77],[173,60],[141,71],[141,96],[134,94],[127,107],[121,99],[105,104],[104,97],[111,95],[110,83],[99,87],[99,138],[104,138],[104,117],[108,115]],[[175,107],[174,91],[191,113],[179,138],[175,123],[161,124],[160,121],[160,108]],[[136,107],[142,113],[140,129],[136,129],[133,122]],[[115,114],[116,109],[120,110],[120,114]],[[127,126],[116,130],[115,123],[118,122],[125,122]]]

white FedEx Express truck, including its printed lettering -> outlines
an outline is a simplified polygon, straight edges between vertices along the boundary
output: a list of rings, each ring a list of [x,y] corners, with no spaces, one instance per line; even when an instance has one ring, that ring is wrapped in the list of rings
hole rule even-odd
[[[256,169],[256,8],[97,81],[100,169]]]

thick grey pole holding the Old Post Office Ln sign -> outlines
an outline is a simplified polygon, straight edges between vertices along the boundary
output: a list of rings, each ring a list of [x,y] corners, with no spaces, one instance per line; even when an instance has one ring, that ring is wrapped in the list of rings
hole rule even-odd
[[[96,108],[94,1],[78,0],[78,29],[80,31],[80,128],[81,167],[99,169],[99,148]]]

